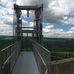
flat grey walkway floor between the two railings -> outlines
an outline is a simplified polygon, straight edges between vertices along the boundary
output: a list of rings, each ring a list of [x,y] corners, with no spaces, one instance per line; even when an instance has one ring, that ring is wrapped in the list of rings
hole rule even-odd
[[[33,52],[21,52],[12,74],[39,74]]]

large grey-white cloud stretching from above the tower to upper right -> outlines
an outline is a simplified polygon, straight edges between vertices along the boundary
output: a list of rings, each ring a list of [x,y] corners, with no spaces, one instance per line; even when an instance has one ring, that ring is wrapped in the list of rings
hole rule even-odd
[[[16,0],[16,3],[18,5],[37,5],[43,3],[43,19],[50,23],[68,24],[64,21],[64,15],[74,12],[74,0]]]

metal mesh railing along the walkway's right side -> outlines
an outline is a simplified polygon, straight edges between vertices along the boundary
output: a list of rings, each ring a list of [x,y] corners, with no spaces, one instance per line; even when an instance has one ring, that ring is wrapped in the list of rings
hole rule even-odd
[[[50,51],[37,42],[33,42],[33,47],[40,74],[50,74]]]

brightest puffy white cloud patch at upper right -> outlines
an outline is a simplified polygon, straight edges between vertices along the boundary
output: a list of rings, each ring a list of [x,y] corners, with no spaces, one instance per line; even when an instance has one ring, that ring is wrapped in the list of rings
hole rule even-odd
[[[67,14],[69,13],[69,2],[70,0],[54,0],[49,3],[49,8],[57,16]]]

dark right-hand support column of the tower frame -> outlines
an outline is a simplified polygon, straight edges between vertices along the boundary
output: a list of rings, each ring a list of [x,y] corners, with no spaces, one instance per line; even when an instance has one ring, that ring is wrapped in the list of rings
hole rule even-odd
[[[35,11],[35,19],[36,19],[36,31],[38,31],[38,33],[36,33],[36,37],[37,37],[37,42],[39,42],[40,44],[42,44],[43,40],[43,35],[42,35],[42,13],[43,12],[43,5],[41,8],[39,8],[38,10]]]

